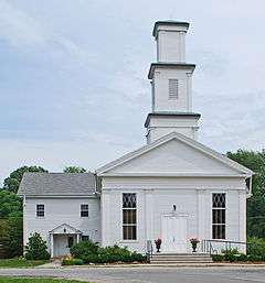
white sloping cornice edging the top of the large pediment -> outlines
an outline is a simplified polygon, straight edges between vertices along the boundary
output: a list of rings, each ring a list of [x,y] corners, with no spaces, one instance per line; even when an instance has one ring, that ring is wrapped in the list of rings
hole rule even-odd
[[[233,168],[235,172],[237,172],[239,175],[246,175],[246,176],[251,176],[253,175],[254,173],[248,170],[247,167],[234,162],[233,160],[226,157],[225,155],[203,145],[202,143],[193,140],[193,139],[190,139],[181,133],[178,133],[178,132],[171,132],[165,137],[162,137],[161,139],[158,139],[156,140],[155,142],[148,144],[148,145],[145,145],[136,151],[132,151],[130,153],[127,153],[125,154],[124,156],[99,167],[98,170],[96,170],[96,173],[98,176],[104,176],[104,175],[108,175],[108,172],[110,170],[114,170],[115,167],[119,166],[119,165],[123,165],[147,152],[150,152],[152,150],[155,150],[156,148],[171,141],[171,140],[178,140],[178,141],[181,141],[183,142],[184,144],[193,148],[193,149],[197,149],[198,151],[204,153],[205,155],[214,159],[215,161]],[[114,174],[115,175],[115,174]],[[172,175],[172,174],[171,174]],[[184,176],[186,174],[182,173],[182,175]]]

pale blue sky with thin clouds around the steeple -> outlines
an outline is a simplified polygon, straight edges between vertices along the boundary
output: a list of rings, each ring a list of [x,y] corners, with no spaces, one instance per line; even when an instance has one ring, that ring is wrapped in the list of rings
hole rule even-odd
[[[199,141],[265,148],[263,0],[0,0],[0,184],[22,165],[95,170],[144,145],[158,20],[190,22]]]

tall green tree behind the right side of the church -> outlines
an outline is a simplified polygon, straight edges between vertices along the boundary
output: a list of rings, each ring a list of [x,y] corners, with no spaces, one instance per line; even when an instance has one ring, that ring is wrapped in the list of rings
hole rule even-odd
[[[247,199],[247,236],[265,238],[265,151],[239,150],[227,156],[255,172],[253,196]]]

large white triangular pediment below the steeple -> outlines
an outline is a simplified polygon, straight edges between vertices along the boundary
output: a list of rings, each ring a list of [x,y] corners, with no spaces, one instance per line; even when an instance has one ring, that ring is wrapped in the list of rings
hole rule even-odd
[[[251,175],[252,171],[194,140],[171,133],[107,164],[98,174]]]

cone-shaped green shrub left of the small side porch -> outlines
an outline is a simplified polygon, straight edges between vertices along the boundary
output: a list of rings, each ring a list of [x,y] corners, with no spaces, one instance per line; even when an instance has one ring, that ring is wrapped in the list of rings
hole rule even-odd
[[[42,239],[40,233],[34,232],[29,238],[29,243],[25,247],[25,259],[26,260],[47,260],[47,259],[50,259],[46,242]]]

